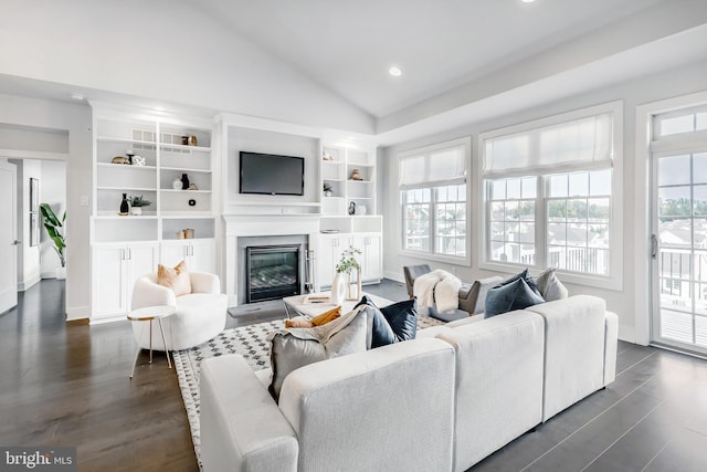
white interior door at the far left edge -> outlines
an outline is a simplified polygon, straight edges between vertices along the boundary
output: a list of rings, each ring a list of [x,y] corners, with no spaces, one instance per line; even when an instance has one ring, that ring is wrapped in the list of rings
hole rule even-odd
[[[0,313],[18,304],[17,167],[0,161]]]

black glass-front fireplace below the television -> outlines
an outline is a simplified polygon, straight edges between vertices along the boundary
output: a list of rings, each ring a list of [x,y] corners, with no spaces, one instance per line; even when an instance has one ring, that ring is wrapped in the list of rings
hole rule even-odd
[[[298,295],[300,247],[250,245],[245,248],[247,291],[245,303]]]

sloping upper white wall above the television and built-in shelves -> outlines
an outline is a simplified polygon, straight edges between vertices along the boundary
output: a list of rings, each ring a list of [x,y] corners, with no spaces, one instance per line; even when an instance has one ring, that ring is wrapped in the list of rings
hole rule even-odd
[[[292,123],[374,127],[370,115],[238,36],[198,2],[4,0],[2,7],[0,73]]]

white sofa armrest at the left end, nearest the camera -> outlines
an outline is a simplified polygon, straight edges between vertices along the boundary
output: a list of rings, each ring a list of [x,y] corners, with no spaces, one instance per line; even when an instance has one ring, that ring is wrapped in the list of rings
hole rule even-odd
[[[243,357],[201,363],[200,389],[204,471],[297,470],[296,434]]]

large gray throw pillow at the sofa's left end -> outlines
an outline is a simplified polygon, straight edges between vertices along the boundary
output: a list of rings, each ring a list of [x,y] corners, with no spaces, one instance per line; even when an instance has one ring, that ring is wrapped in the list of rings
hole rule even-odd
[[[277,401],[285,377],[293,370],[319,360],[366,350],[367,316],[359,312],[313,328],[287,328],[268,334],[273,378],[270,392]]]

